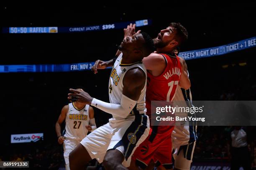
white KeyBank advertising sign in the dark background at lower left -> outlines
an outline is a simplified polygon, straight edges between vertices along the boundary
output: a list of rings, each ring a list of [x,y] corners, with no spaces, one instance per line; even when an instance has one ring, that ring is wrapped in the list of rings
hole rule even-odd
[[[43,139],[43,133],[30,133],[30,134],[11,134],[11,143],[26,143],[36,142]]]

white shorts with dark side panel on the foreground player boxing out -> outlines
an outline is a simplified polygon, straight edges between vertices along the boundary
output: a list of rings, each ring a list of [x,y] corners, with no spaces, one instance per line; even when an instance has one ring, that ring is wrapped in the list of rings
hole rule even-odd
[[[103,161],[108,150],[117,149],[125,157],[123,166],[128,167],[131,163],[131,155],[148,137],[148,116],[138,114],[116,122],[112,120],[87,135],[80,143],[91,158],[97,159],[99,163]]]

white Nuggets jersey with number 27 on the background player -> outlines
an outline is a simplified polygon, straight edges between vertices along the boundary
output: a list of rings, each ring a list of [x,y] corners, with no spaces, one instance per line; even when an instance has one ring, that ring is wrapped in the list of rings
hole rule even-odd
[[[89,125],[89,105],[78,110],[73,103],[69,103],[69,111],[66,116],[66,127],[64,137],[69,140],[81,141],[86,137],[88,130],[85,126]]]

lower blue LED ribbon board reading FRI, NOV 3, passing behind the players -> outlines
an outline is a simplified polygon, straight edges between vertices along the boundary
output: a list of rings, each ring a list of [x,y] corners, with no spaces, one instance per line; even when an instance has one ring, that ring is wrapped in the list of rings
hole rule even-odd
[[[196,58],[220,56],[226,53],[240,51],[255,46],[256,37],[253,37],[224,46],[182,52],[179,53],[179,56],[185,60],[191,60]],[[94,62],[74,64],[0,65],[0,73],[86,71],[91,70],[93,65]],[[111,67],[108,67],[108,69],[110,68]]]

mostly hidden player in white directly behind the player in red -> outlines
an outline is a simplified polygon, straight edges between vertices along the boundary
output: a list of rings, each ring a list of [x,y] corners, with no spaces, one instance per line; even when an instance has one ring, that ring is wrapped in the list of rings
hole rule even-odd
[[[178,55],[179,49],[175,51]],[[184,67],[184,71],[187,72],[187,66]],[[178,107],[194,107],[192,105],[192,94],[190,89],[183,89],[179,85],[174,96],[174,103],[177,103]],[[182,113],[181,113],[182,114]],[[187,113],[184,113],[184,117],[187,117]],[[190,116],[195,117],[195,114]],[[197,125],[196,124],[180,124],[174,127],[172,131],[172,150],[174,162],[174,170],[190,170],[190,165],[193,158],[195,144],[197,140]]]

